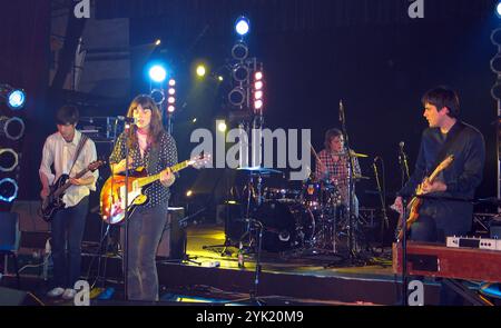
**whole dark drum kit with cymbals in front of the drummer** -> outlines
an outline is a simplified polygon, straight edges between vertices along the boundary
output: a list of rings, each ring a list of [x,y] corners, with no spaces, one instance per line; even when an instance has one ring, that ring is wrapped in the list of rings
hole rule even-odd
[[[283,175],[282,171],[269,168],[239,170],[248,173],[244,188],[247,192],[243,193],[242,203],[246,207],[246,221],[257,220],[263,227],[262,249],[327,255],[347,249],[350,220],[334,182],[311,176],[296,188],[271,188],[265,186],[264,179]],[[256,236],[253,225],[248,223],[240,241],[252,246]]]

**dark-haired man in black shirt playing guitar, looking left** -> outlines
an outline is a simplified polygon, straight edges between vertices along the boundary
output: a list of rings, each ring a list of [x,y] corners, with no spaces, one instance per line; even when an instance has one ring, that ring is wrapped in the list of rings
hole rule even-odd
[[[430,128],[422,133],[414,172],[392,207],[402,212],[402,197],[413,196],[421,183],[421,193],[430,199],[422,199],[419,217],[410,227],[410,239],[445,242],[448,236],[470,231],[473,206],[469,201],[440,197],[473,199],[482,180],[485,145],[479,130],[459,120],[460,103],[453,90],[445,87],[432,89],[421,101]],[[428,175],[451,155],[452,162],[432,181],[428,179]],[[441,304],[456,304],[459,299],[454,297],[442,288]]]

